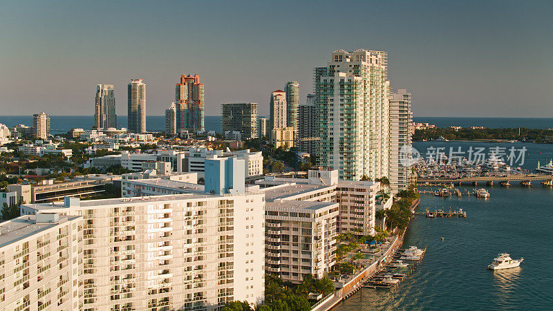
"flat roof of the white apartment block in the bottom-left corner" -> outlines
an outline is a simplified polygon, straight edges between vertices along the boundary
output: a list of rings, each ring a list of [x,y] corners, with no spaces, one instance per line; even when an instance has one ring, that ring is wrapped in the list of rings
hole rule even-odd
[[[0,247],[10,245],[16,241],[22,240],[33,234],[37,234],[41,231],[55,227],[64,220],[73,220],[81,216],[64,216],[59,215],[59,222],[57,223],[35,223],[35,215],[19,216],[11,220],[0,223]]]

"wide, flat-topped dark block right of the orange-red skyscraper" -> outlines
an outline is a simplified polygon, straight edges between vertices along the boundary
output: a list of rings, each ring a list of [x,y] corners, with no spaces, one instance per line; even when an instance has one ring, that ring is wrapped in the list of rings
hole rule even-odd
[[[221,130],[239,131],[243,139],[257,138],[257,103],[225,102],[221,105]]]

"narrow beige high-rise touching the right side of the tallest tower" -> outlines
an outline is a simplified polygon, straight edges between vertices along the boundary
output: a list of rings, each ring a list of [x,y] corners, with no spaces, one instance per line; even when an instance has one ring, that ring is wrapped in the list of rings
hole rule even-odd
[[[390,171],[393,193],[409,187],[411,176],[411,93],[399,89],[390,98]]]

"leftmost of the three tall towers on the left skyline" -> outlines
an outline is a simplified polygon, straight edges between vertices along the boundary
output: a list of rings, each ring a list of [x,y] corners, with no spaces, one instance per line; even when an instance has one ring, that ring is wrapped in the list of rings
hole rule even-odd
[[[94,128],[116,128],[117,116],[115,115],[115,94],[113,93],[113,84],[98,84],[96,86],[95,103]]]

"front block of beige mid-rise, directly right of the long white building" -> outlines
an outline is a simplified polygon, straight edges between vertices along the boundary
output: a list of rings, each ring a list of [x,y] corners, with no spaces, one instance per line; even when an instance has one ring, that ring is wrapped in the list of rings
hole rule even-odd
[[[265,206],[265,270],[301,283],[334,265],[338,203],[279,199]]]

